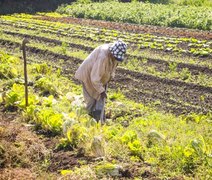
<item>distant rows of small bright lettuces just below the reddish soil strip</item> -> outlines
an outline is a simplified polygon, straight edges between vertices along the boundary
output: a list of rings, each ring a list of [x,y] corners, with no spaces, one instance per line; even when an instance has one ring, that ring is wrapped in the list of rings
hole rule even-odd
[[[152,34],[121,32],[118,30],[110,30],[97,27],[82,26],[76,24],[65,24],[61,22],[51,22],[41,20],[42,15],[51,17],[62,17],[56,13],[40,14],[37,16],[21,14],[13,16],[2,16],[1,29],[4,32],[13,31],[13,26],[19,29],[19,32],[38,31],[48,32],[52,34],[64,35],[70,38],[82,38],[86,41],[96,42],[97,44],[104,42],[113,42],[117,38],[127,42],[133,49],[155,49],[175,53],[187,53],[194,56],[209,56],[212,52],[211,41],[198,40],[195,38],[179,38],[156,36]],[[13,24],[12,27],[8,27]],[[59,38],[59,37],[58,37]],[[83,45],[85,43],[82,43]]]

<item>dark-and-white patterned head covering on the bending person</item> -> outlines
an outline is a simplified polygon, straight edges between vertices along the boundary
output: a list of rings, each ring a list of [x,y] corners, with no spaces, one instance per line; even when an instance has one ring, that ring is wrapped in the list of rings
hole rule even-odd
[[[127,45],[125,42],[118,40],[109,47],[111,54],[116,58],[117,61],[123,61],[124,55],[126,54]]]

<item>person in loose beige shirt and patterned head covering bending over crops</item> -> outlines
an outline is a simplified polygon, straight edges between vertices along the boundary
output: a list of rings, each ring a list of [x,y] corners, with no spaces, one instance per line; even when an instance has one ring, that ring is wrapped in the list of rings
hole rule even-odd
[[[100,120],[107,98],[106,86],[115,76],[118,63],[124,60],[126,48],[127,45],[120,40],[103,44],[95,48],[76,71],[75,78],[83,86],[86,109],[97,121]]]

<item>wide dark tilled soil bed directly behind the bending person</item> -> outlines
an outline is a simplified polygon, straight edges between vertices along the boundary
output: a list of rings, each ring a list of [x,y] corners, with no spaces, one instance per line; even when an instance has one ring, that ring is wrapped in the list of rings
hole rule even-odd
[[[6,41],[1,41],[0,44],[10,48],[20,46],[18,43]],[[27,51],[28,56],[46,59],[50,64],[51,62],[57,64],[58,59],[63,59],[64,62],[61,64],[63,73],[75,81],[73,74],[82,60],[35,47],[28,47]],[[210,74],[210,69],[206,73]],[[192,112],[208,113],[212,110],[211,87],[160,78],[123,68],[117,69],[116,77],[110,82],[109,88],[119,88],[129,99],[154,105],[159,110],[176,115]]]

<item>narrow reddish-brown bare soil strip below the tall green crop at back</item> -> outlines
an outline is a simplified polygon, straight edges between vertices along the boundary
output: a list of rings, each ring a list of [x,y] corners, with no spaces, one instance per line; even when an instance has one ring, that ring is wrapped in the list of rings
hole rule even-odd
[[[120,31],[129,31],[134,33],[150,33],[154,35],[163,35],[163,36],[173,36],[173,37],[193,37],[197,39],[212,39],[212,33],[209,31],[200,31],[200,30],[191,30],[185,28],[167,28],[159,26],[144,26],[144,25],[135,25],[129,23],[115,23],[107,22],[100,20],[91,20],[91,19],[81,19],[81,18],[72,18],[72,17],[49,17],[49,16],[38,16],[36,19],[47,20],[47,21],[56,21],[63,23],[75,23],[81,24],[83,26],[96,26],[107,29],[117,29]]]

